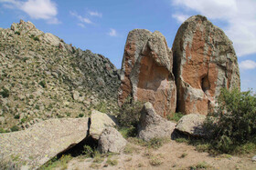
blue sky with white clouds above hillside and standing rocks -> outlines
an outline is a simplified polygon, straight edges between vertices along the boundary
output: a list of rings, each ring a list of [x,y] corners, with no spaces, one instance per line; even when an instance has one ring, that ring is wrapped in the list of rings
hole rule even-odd
[[[67,44],[122,65],[129,31],[160,31],[171,48],[178,27],[191,15],[205,15],[233,42],[241,90],[256,91],[256,0],[0,0],[0,27],[20,19],[59,36]]]

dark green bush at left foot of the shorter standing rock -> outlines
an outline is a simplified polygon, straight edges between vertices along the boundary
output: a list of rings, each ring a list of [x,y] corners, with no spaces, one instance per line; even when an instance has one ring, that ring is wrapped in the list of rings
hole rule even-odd
[[[123,127],[136,127],[138,125],[143,104],[133,102],[130,97],[125,101],[119,110],[118,121]]]

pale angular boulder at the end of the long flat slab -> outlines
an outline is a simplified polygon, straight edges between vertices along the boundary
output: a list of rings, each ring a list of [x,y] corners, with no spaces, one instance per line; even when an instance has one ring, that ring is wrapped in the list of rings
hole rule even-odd
[[[106,127],[114,127],[116,123],[112,115],[103,114],[97,110],[91,112],[90,135],[93,139],[98,140],[102,131]]]

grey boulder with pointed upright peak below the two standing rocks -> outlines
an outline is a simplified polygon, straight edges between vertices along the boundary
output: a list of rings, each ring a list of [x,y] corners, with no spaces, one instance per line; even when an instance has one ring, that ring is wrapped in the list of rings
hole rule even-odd
[[[138,137],[149,141],[154,137],[171,137],[176,124],[167,121],[157,115],[153,105],[149,102],[144,104],[140,123],[138,125]]]

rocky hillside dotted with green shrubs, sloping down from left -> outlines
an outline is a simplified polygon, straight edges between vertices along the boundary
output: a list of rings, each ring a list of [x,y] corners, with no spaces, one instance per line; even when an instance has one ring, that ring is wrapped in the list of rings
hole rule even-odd
[[[2,132],[50,117],[88,115],[106,101],[116,105],[120,80],[108,58],[67,45],[30,22],[0,28],[0,58]]]

